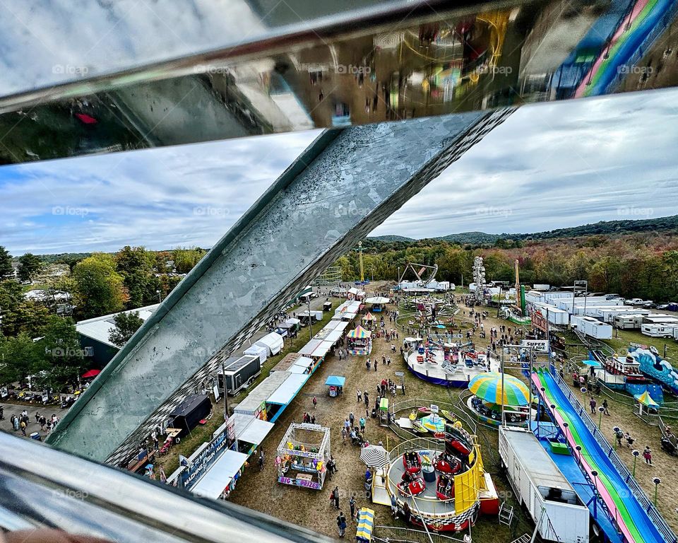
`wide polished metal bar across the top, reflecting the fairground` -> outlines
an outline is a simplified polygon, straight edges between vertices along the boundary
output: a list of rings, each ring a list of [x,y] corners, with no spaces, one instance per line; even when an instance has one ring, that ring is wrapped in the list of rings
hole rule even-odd
[[[126,4],[85,12],[93,28],[114,25],[103,44],[64,25],[79,47],[0,81],[0,164],[678,83],[677,0],[203,0],[181,23],[169,0],[154,13]],[[59,21],[50,6],[41,16]],[[40,21],[28,22],[37,40],[56,40]],[[30,58],[35,40],[14,26],[0,46]]]

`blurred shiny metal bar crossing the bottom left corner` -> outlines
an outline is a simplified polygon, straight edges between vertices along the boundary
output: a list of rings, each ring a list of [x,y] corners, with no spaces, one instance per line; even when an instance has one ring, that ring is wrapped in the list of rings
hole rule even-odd
[[[117,543],[329,541],[263,513],[201,500],[0,432],[0,530],[45,527]]]

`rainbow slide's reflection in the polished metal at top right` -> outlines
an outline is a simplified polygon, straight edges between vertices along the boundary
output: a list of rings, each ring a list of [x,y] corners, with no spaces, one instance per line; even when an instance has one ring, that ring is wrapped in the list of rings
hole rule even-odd
[[[619,74],[628,73],[627,63],[638,47],[643,45],[662,17],[670,10],[674,0],[638,0],[619,24],[609,48],[605,47],[578,86],[575,96],[605,94],[607,87]]]

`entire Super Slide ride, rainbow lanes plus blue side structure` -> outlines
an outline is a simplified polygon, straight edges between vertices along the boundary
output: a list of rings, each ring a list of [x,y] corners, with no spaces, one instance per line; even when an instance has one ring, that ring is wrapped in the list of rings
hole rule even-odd
[[[542,405],[559,428],[561,438],[570,450],[577,451],[575,454],[579,468],[588,481],[593,481],[595,491],[589,508],[595,508],[597,501],[600,501],[597,507],[610,517],[601,526],[619,530],[628,543],[667,541],[658,528],[658,523],[663,519],[646,496],[641,503],[641,498],[638,498],[638,493],[631,486],[631,481],[635,484],[631,474],[623,476],[619,472],[612,461],[612,456],[616,457],[612,448],[607,444],[606,448],[609,450],[604,450],[600,440],[594,436],[592,428],[597,431],[595,424],[586,424],[583,419],[586,415],[580,416],[554,376],[546,370],[533,373],[532,382],[539,391]],[[656,516],[650,518],[650,512],[656,513]],[[610,536],[613,541],[618,540],[616,532]]]

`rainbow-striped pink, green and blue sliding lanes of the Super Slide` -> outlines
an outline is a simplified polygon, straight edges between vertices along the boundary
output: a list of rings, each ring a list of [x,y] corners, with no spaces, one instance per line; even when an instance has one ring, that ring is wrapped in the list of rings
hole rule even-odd
[[[662,536],[646,508],[631,492],[622,474],[612,465],[600,443],[566,398],[553,376],[546,372],[533,373],[532,380],[572,450],[577,446],[581,447],[581,469],[592,481],[594,478],[591,473],[597,472],[597,491],[610,515],[616,520],[626,542],[665,543],[667,539]],[[550,407],[552,405],[555,407]],[[564,426],[565,423],[568,424],[567,428]]]

